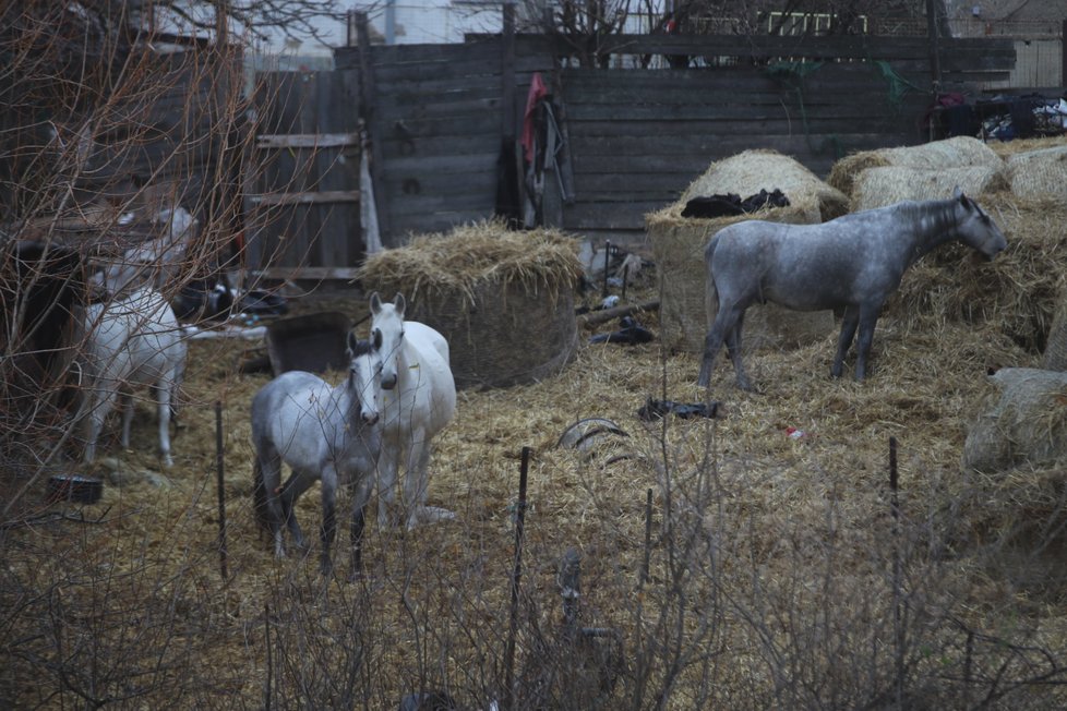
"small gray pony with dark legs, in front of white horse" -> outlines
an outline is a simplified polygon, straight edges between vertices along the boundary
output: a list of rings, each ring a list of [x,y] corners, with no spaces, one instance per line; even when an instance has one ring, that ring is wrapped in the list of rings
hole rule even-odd
[[[289,371],[264,385],[252,398],[253,501],[256,518],[269,531],[274,552],[285,557],[283,522],[297,546],[308,549],[295,506],[316,480],[322,482],[324,576],[333,571],[329,546],[336,535],[337,485],[352,487],[351,569],[362,569],[363,508],[374,489],[381,449],[377,427],[381,359],[368,341],[348,334],[348,377],[332,387],[312,373]],[[292,473],[281,484],[281,462]]]

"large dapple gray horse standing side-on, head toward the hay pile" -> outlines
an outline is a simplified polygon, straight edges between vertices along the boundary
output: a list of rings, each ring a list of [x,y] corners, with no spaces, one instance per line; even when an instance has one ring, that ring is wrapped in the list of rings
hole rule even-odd
[[[716,301],[718,311],[705,340],[698,384],[707,387],[726,342],[738,387],[752,389],[741,363],[741,328],[745,310],[768,301],[795,311],[843,312],[830,374],[841,376],[859,328],[855,379],[862,381],[882,305],[908,267],[950,241],[988,260],[1007,246],[996,224],[959,189],[948,200],[897,203],[822,225],[750,220],[724,227],[705,252],[708,313]]]

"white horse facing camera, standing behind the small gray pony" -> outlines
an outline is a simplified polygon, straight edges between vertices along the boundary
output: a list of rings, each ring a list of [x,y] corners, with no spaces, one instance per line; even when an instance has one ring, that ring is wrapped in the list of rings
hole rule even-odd
[[[448,341],[417,321],[404,321],[404,294],[383,303],[371,294],[371,342],[382,354],[382,456],[379,460],[379,525],[389,523],[389,507],[404,468],[403,506],[408,529],[419,522],[454,518],[427,506],[430,441],[456,412],[456,382],[448,365]]]

